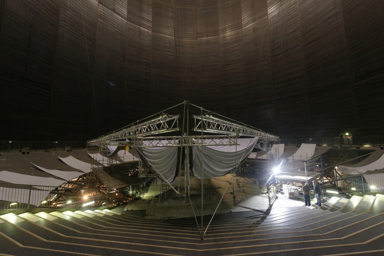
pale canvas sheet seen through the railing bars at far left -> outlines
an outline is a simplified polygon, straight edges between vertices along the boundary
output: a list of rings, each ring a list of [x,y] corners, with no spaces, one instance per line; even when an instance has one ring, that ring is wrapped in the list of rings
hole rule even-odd
[[[31,194],[30,194],[31,192]],[[25,188],[0,187],[0,200],[18,203],[30,203],[39,206],[48,194],[49,190],[34,190]]]

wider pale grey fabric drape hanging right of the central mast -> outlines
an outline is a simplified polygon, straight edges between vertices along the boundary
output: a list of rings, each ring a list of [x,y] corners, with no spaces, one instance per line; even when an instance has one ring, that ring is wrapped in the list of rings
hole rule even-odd
[[[232,172],[247,159],[252,152],[259,137],[237,139],[240,145],[212,145],[203,146],[203,159],[201,155],[201,146],[192,147],[193,168],[192,172],[197,178],[201,176],[201,163],[203,160],[204,174],[203,178],[214,178],[223,176]],[[205,143],[218,144],[219,140],[203,140]],[[228,139],[224,140],[228,143]],[[196,143],[200,143],[200,140]]]

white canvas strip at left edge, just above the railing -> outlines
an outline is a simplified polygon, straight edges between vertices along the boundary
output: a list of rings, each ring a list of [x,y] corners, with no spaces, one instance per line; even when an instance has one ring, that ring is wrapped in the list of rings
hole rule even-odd
[[[23,185],[40,185],[40,186],[51,186],[58,187],[65,183],[65,180],[58,180],[50,177],[38,177],[33,175],[26,175],[15,172],[1,171],[0,180]]]

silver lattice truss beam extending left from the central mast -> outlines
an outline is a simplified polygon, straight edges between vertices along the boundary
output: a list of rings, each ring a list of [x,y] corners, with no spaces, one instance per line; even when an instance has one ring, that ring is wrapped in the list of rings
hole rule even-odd
[[[163,114],[152,120],[145,121],[140,124],[132,124],[129,127],[122,128],[93,140],[88,140],[87,144],[89,146],[106,145],[105,143],[108,143],[108,145],[126,145],[127,143],[122,144],[122,142],[116,142],[116,144],[113,144],[112,141],[130,139],[137,136],[141,137],[164,132],[179,131],[181,130],[178,124],[179,117],[180,115],[171,116],[169,114]]]

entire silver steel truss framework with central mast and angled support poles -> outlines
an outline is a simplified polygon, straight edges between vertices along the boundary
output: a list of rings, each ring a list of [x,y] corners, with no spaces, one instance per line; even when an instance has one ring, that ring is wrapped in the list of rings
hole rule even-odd
[[[170,110],[180,109],[183,107],[183,114],[164,114]],[[194,109],[192,109],[194,107]],[[189,124],[189,113],[194,111],[192,119],[194,120],[194,126],[190,127]],[[179,122],[180,117],[182,117],[182,122]],[[177,136],[164,136],[166,133],[170,132],[180,132]],[[157,136],[153,136],[158,134]],[[161,134],[161,135],[160,135]],[[214,134],[214,135],[212,135]],[[269,142],[276,142],[279,140],[279,137],[267,132],[263,132],[260,129],[257,129],[252,126],[248,126],[241,122],[229,119],[227,117],[221,116],[220,114],[208,111],[202,107],[191,104],[187,101],[184,101],[180,104],[172,106],[164,111],[158,112],[152,116],[149,116],[145,119],[137,121],[129,126],[123,127],[119,130],[110,132],[109,134],[100,136],[96,139],[89,140],[87,142],[88,146],[108,146],[108,145],[129,145],[134,148],[141,147],[181,147],[181,150],[185,152],[185,160],[182,162],[180,157],[179,162],[179,185],[175,189],[169,182],[166,182],[178,195],[180,194],[180,178],[182,175],[180,173],[184,170],[184,184],[185,184],[185,195],[184,203],[190,202],[190,183],[189,183],[189,170],[190,170],[190,159],[189,159],[189,150],[192,147],[207,147],[212,145],[239,145],[237,139],[240,137],[259,137],[259,141],[263,141],[269,144]],[[140,153],[140,150],[137,150]],[[202,158],[204,158],[203,150],[201,150]],[[141,155],[144,157],[144,155]],[[272,166],[269,166],[272,168]],[[152,168],[157,172],[156,168]],[[201,166],[202,177],[203,177],[203,164]],[[228,182],[228,187],[232,184],[233,187],[237,186],[235,182],[235,173],[240,171],[240,167],[237,170],[232,172],[232,178]],[[160,172],[157,172],[163,180],[166,179],[162,177]],[[203,180],[201,182],[201,213],[203,213],[203,198],[204,198],[204,188]],[[235,189],[235,188],[233,188]],[[212,215],[209,224],[203,229],[203,216],[201,218],[201,223],[199,224],[196,218],[195,209],[190,203],[191,210],[193,211],[197,227],[199,228],[201,239],[204,239],[204,235],[207,232],[211,221],[213,220],[218,206],[223,199],[225,192],[220,199],[214,214]],[[235,197],[235,194],[233,194]],[[273,202],[270,198],[270,204]],[[203,215],[203,214],[202,214]]]

